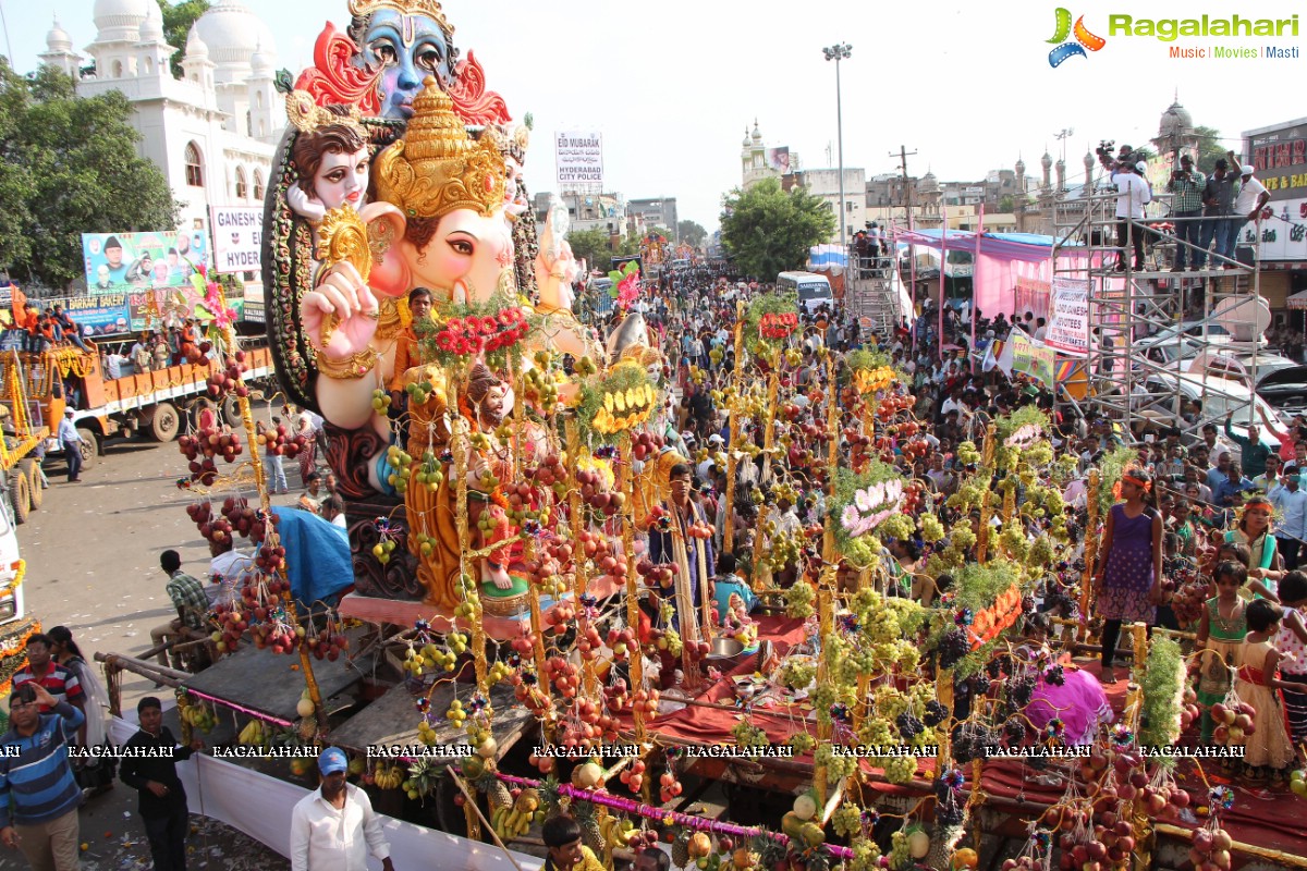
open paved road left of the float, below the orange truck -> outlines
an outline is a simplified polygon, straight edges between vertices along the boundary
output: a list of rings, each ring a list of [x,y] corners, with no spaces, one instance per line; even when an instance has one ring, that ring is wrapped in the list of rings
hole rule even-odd
[[[288,473],[294,464],[286,464]],[[18,528],[26,607],[46,628],[67,626],[88,659],[95,652],[139,654],[150,628],[175,615],[158,568],[159,551],[182,554],[183,568],[208,571],[208,545],[184,507],[193,494],[178,490],[186,460],[176,444],[111,441],[81,483],[65,483],[63,461],[51,458],[41,511]],[[298,481],[291,479],[291,486]],[[294,492],[294,491],[293,491]],[[277,498],[289,503],[290,496]],[[123,709],[135,710],[154,684],[123,673]],[[167,691],[165,691],[167,692]],[[122,784],[90,799],[81,812],[88,871],[148,868],[149,847],[136,816],[136,793]],[[125,816],[129,815],[129,816]],[[289,863],[244,836],[192,816],[191,867],[281,871]],[[0,847],[0,870],[24,868],[20,854]]]

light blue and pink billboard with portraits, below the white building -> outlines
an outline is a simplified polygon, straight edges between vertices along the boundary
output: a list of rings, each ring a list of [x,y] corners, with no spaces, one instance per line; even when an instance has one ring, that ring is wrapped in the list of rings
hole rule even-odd
[[[84,232],[86,290],[99,296],[190,286],[195,270],[208,262],[208,249],[203,230]]]

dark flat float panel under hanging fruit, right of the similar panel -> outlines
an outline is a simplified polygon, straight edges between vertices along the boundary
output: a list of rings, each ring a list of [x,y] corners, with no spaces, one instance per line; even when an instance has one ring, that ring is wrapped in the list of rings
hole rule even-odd
[[[455,687],[463,701],[476,689],[472,684],[446,682],[431,693],[431,710],[437,716],[433,725],[440,744],[468,743],[467,731],[444,718],[444,712],[454,701]],[[494,706],[494,739],[499,746],[498,755],[503,756],[535,723],[535,717],[518,704],[512,687],[507,684],[490,689],[490,704]],[[337,747],[358,752],[366,752],[369,747],[416,747],[421,743],[417,736],[418,718],[417,696],[401,683],[332,730],[329,740]]]

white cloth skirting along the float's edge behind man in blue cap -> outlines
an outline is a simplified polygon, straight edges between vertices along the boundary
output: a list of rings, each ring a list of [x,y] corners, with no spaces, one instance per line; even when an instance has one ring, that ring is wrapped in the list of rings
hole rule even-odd
[[[116,746],[125,744],[137,729],[135,722],[118,717],[108,718],[108,738]],[[178,763],[176,773],[186,786],[187,803],[192,814],[203,814],[226,823],[281,855],[290,855],[290,812],[295,802],[308,790],[204,753],[196,753],[190,760]],[[386,815],[382,815],[382,820],[386,840],[391,844],[391,858],[397,868],[514,871],[512,863],[494,845],[469,841]],[[544,864],[524,853],[514,851],[512,858],[523,871],[538,871]],[[382,863],[369,857],[367,867],[379,871]]]

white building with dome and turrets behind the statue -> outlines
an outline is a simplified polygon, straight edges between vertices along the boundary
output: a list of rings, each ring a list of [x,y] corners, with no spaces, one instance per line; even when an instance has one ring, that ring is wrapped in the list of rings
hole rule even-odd
[[[268,26],[240,0],[218,0],[191,27],[175,78],[156,0],[95,0],[93,20],[94,73],[80,76],[77,93],[127,95],[141,155],[182,204],[179,226],[208,229],[210,206],[261,206],[286,120]],[[58,20],[41,60],[74,77],[86,64]]]

